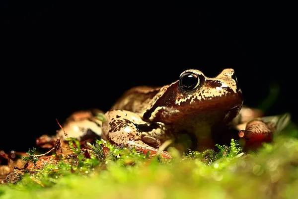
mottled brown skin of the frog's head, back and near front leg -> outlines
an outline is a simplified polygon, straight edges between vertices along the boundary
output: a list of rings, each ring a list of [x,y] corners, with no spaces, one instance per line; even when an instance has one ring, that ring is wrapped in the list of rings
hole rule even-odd
[[[192,89],[183,87],[183,81],[187,82],[183,77],[188,74],[199,79]],[[206,138],[223,137],[217,135],[225,133],[242,103],[233,69],[224,69],[215,78],[208,78],[198,70],[187,70],[170,85],[127,91],[105,114],[107,122],[103,124],[102,136],[119,146],[138,145],[137,150],[144,146],[156,153],[158,142],[162,144],[186,133],[196,140],[198,149],[204,149],[210,147],[203,146]],[[163,152],[163,155],[168,154]]]

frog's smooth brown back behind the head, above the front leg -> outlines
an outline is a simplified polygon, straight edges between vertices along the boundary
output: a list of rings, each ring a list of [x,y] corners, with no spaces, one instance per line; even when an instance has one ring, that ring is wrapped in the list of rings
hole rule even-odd
[[[141,113],[150,106],[154,100],[154,96],[160,91],[160,88],[148,86],[133,87],[125,92],[110,110],[123,109]]]

